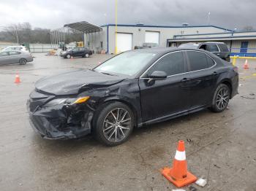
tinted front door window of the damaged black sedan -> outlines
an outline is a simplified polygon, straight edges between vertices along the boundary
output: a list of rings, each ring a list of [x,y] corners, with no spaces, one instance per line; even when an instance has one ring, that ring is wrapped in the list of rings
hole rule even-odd
[[[184,73],[185,66],[182,52],[165,55],[148,70],[148,75],[152,74],[153,71],[165,71],[167,76]]]

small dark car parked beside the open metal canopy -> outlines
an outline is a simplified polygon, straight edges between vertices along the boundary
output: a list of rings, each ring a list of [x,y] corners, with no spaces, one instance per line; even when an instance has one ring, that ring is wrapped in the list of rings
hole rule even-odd
[[[85,47],[75,47],[67,52],[62,52],[61,57],[63,58],[71,58],[71,57],[86,57],[88,58],[89,55],[92,55],[92,50],[89,50]]]

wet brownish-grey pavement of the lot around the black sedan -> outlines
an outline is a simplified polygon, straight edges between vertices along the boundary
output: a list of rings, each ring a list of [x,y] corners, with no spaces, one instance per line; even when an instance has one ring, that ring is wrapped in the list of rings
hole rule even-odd
[[[34,56],[25,66],[0,66],[0,190],[172,190],[160,168],[171,165],[179,139],[189,171],[208,178],[206,187],[192,184],[197,190],[256,190],[256,61],[249,60],[248,70],[237,61],[239,95],[225,112],[206,109],[150,125],[118,147],[105,147],[91,136],[41,139],[29,125],[26,99],[37,79],[92,68],[110,55]]]

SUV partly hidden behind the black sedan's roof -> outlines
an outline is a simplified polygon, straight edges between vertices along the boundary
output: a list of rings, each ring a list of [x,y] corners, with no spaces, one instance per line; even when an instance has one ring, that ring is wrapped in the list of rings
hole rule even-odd
[[[214,55],[219,56],[219,58],[230,62],[230,50],[228,50],[227,44],[225,44],[224,42],[203,42],[200,44],[189,42],[186,44],[181,44],[179,47],[207,50],[214,53]]]

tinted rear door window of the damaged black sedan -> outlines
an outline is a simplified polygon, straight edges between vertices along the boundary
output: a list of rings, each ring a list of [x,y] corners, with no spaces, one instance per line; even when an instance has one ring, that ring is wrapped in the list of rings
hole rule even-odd
[[[197,71],[201,69],[208,68],[208,62],[206,55],[202,52],[187,51],[187,56],[189,58],[189,71]]]

